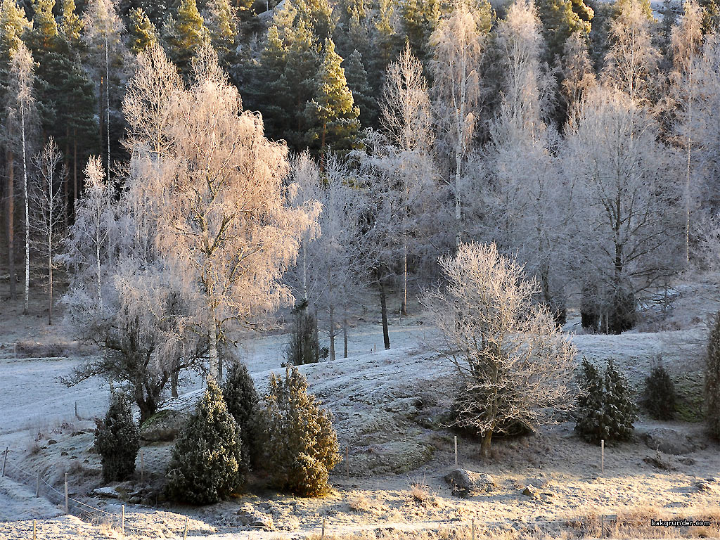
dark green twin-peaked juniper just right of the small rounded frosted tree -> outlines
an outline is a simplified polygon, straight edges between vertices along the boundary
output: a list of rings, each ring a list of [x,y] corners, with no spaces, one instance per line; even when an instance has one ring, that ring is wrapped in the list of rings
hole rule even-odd
[[[579,378],[575,431],[595,444],[603,439],[608,442],[630,438],[637,420],[636,407],[627,379],[613,361],[608,360],[605,374],[601,375],[598,368],[582,359]]]

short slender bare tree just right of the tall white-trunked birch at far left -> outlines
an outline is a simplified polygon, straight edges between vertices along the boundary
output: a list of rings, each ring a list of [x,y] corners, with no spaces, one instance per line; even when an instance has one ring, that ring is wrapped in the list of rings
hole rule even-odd
[[[30,189],[32,202],[32,230],[36,233],[35,247],[45,257],[48,268],[48,324],[53,324],[53,269],[57,265],[55,254],[62,241],[65,207],[60,184],[67,179],[67,170],[60,162],[63,155],[55,140],[48,143],[35,156],[37,175]]]

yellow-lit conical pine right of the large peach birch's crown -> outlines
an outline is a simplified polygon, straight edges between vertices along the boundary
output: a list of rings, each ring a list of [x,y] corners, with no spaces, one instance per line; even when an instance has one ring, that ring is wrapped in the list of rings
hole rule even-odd
[[[342,58],[335,52],[333,40],[325,41],[323,63],[320,64],[318,90],[312,102],[307,104],[307,115],[312,138],[319,143],[321,154],[328,147],[333,150],[353,148],[360,129],[360,109],[355,107],[353,94],[348,89]]]

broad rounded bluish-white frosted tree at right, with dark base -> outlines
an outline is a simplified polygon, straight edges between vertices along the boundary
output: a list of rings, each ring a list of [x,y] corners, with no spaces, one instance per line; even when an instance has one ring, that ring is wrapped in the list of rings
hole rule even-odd
[[[603,331],[634,325],[636,294],[677,268],[678,193],[672,152],[624,91],[598,87],[566,135],[578,272],[595,287]]]

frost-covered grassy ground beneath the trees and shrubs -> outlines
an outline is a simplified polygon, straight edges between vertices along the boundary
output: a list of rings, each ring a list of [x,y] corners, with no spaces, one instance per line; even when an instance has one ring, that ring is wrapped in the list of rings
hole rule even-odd
[[[683,391],[698,392],[703,320],[716,307],[717,298],[716,284],[688,292],[678,300],[683,310],[665,318],[658,332],[584,335],[575,326],[576,318],[571,318],[566,329],[578,332],[572,339],[581,355],[598,362],[613,357],[635,387],[642,384],[657,356],[662,355]],[[693,314],[686,312],[688,306],[695,306]],[[57,328],[33,333],[33,325],[43,328],[40,318],[36,319],[28,322],[17,315],[18,324],[11,325],[3,318],[1,323],[7,329],[4,336],[48,345],[62,341]],[[662,518],[688,513],[710,515],[719,508],[720,482],[716,477],[720,474],[720,453],[704,439],[701,426],[661,425],[648,420],[638,424],[638,431],[671,428],[696,441],[696,448],[687,456],[664,456],[673,469],[661,470],[644,462],[654,456],[654,450],[642,443],[611,446],[606,450],[605,472],[600,474],[599,449],[579,441],[570,423],[537,436],[497,441],[491,462],[478,460],[477,444],[461,437],[460,465],[491,474],[498,487],[468,499],[454,497],[442,480],[454,468],[453,433],[443,425],[453,371],[426,346],[433,335],[431,321],[423,323],[420,316],[402,323],[395,318],[392,349],[383,351],[377,321],[360,321],[351,332],[348,359],[301,367],[310,390],[335,415],[343,457],[348,458],[333,472],[335,489],[328,497],[302,500],[279,495],[263,478],[254,478],[253,495],[207,508],[125,503],[128,526],[135,527],[136,533],[141,531],[145,538],[181,537],[188,516],[189,537],[217,531],[218,539],[260,540],[317,534],[323,518],[328,533],[333,534],[369,531],[377,526],[396,531],[443,526],[454,529],[467,526],[474,518],[477,523],[503,523],[500,528],[513,531],[546,527],[544,534],[557,537],[559,531],[543,525],[546,521],[598,513],[614,515],[637,506]],[[269,372],[282,369],[287,336],[261,336],[243,343],[240,356],[262,389]],[[341,341],[337,348],[342,350]],[[89,447],[93,439],[91,418],[104,413],[107,387],[98,381],[71,389],[60,384],[58,377],[82,361],[77,357],[9,356],[8,348],[0,351],[0,449],[11,449],[10,466],[32,472],[40,469],[42,478],[60,489],[68,472],[71,496],[119,514],[120,501],[87,496],[102,483],[98,456]],[[184,401],[190,403],[199,395],[202,383],[191,379],[182,390]],[[76,402],[81,419],[75,416]],[[183,400],[174,405],[184,405]],[[696,405],[689,400],[688,415],[692,416]],[[170,450],[171,444],[144,446],[144,484],[137,478],[130,487],[161,483]],[[22,480],[22,475],[13,478]],[[703,488],[698,487],[700,482],[705,482]],[[57,507],[33,497],[32,479],[24,483],[30,487],[0,480],[0,539],[30,538],[32,519],[37,520],[40,539],[117,536],[108,526],[62,516]],[[521,491],[529,483],[543,485],[544,492],[552,495],[541,500],[527,498]],[[258,517],[271,520],[275,532],[238,533],[238,529],[228,528]]]

